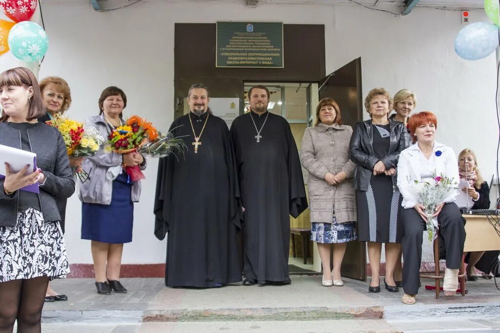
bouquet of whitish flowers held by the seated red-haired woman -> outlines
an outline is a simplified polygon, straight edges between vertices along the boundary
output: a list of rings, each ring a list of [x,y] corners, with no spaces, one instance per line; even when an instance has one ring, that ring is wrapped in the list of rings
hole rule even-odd
[[[432,178],[426,178],[421,181],[414,181],[411,190],[418,198],[418,202],[424,206],[423,212],[427,215],[427,232],[429,241],[433,241],[437,235],[437,217],[432,215],[435,213],[437,205],[442,203],[446,196],[456,190],[456,181],[444,176],[437,176],[434,172]]]

